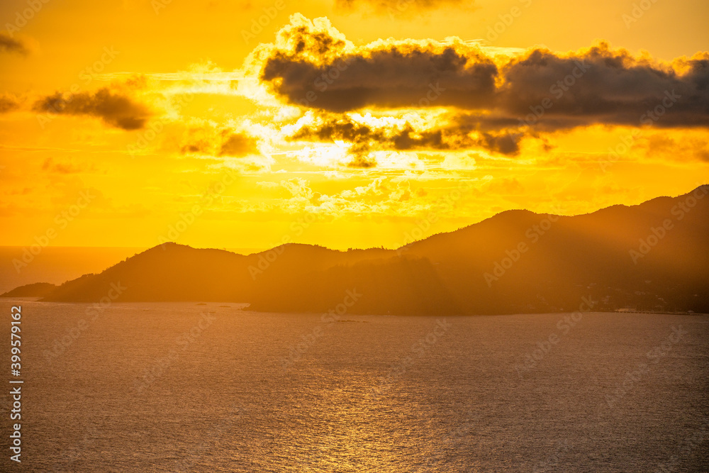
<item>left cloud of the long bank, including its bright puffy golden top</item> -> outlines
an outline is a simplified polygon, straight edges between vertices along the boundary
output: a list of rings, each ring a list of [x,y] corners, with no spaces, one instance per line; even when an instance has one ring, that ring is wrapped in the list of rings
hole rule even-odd
[[[497,67],[475,45],[457,50],[431,41],[377,42],[354,48],[319,20],[292,16],[262,58],[260,78],[291,104],[340,112],[491,105]]]

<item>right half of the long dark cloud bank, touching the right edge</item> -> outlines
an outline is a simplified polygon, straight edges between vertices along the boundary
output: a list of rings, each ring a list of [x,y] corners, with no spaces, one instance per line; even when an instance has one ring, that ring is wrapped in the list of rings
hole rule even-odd
[[[709,125],[709,54],[676,66],[639,60],[607,43],[568,57],[532,50],[501,69],[495,108],[550,129]]]

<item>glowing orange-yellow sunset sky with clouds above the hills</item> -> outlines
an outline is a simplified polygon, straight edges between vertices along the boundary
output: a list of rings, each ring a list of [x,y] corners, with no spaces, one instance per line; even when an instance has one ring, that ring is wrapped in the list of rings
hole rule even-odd
[[[0,4],[0,245],[398,247],[709,176],[705,1]]]

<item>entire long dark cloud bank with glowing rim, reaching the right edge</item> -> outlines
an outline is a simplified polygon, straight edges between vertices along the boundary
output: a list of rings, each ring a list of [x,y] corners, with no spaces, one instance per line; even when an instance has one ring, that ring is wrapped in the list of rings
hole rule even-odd
[[[355,46],[327,19],[294,15],[252,60],[273,94],[321,111],[446,107],[467,113],[471,127],[497,131],[709,126],[708,52],[662,63],[603,42],[515,56],[489,55],[457,38]]]

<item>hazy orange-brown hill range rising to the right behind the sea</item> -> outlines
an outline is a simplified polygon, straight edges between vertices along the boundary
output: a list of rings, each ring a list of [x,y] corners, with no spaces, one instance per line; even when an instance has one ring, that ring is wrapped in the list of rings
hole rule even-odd
[[[46,301],[241,301],[257,311],[709,312],[709,186],[579,216],[506,211],[398,250],[289,244],[253,255],[175,243],[66,282]],[[120,294],[116,284],[120,283]],[[113,291],[111,292],[113,288]]]

